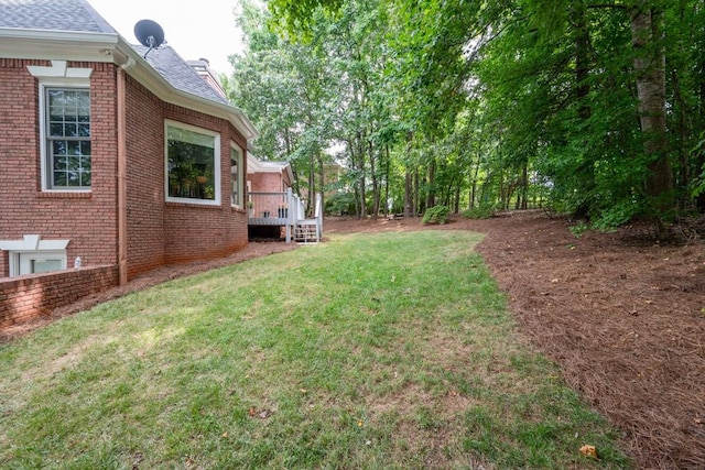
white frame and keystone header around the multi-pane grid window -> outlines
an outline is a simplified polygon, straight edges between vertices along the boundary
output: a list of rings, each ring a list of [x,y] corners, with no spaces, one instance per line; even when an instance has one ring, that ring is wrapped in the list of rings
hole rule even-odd
[[[28,66],[28,70],[32,76],[39,79],[39,118],[40,118],[40,170],[42,192],[47,193],[90,193],[91,187],[52,187],[48,140],[47,140],[47,121],[48,110],[46,109],[46,89],[64,88],[88,90],[90,94],[90,75],[93,68],[67,67],[66,61],[52,61],[51,66]],[[93,138],[91,138],[93,139]],[[91,152],[91,167],[94,166],[94,155]],[[93,184],[93,174],[91,174]]]

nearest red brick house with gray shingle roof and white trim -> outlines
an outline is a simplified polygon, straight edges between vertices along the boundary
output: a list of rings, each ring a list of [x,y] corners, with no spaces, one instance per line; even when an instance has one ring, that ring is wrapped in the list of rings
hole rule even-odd
[[[87,1],[0,0],[0,278],[80,264],[122,284],[243,248],[256,135],[173,48],[129,44]]]

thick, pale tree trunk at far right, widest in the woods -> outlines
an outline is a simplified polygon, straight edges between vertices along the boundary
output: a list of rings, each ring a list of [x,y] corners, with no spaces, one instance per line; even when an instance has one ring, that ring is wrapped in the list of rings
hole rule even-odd
[[[666,140],[665,53],[663,12],[648,0],[636,1],[629,11],[631,44],[634,51],[639,120],[644,139],[649,177],[647,194],[660,211],[673,208],[673,182]]]

